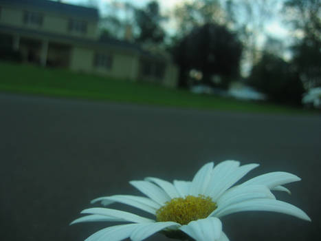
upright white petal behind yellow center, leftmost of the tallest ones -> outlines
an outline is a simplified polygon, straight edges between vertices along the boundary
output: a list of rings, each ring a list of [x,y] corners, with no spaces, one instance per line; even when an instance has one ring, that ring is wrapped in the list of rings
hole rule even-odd
[[[197,171],[197,174],[195,174],[192,180],[192,185],[190,185],[190,195],[198,196],[199,194],[205,193],[208,182],[210,181],[213,166],[214,163],[207,163]]]

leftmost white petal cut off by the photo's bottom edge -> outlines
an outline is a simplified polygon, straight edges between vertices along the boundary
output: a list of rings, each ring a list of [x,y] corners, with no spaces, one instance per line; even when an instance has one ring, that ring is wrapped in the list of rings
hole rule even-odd
[[[122,224],[102,229],[90,235],[85,241],[120,241],[129,238],[133,230],[141,224]]]

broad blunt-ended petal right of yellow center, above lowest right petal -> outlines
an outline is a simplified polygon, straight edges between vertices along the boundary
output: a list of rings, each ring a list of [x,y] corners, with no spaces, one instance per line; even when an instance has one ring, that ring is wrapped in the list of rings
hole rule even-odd
[[[275,199],[273,193],[264,185],[232,187],[228,191],[225,191],[217,200],[217,209],[215,209],[210,216],[216,216],[216,213],[220,213],[222,209],[225,209],[230,205],[255,198]]]

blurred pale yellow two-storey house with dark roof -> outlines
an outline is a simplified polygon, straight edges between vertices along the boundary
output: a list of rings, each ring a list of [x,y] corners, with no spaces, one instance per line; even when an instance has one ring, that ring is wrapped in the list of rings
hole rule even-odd
[[[0,45],[24,61],[177,85],[170,58],[126,41],[100,39],[96,8],[47,0],[0,0]],[[1,56],[0,56],[1,57]]]

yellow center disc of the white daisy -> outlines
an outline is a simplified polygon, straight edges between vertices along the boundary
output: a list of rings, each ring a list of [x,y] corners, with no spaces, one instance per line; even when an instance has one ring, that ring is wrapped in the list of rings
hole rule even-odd
[[[217,209],[212,198],[203,195],[186,196],[186,198],[173,198],[156,211],[156,220],[159,222],[178,222],[188,224],[192,220],[207,218],[212,211]]]

